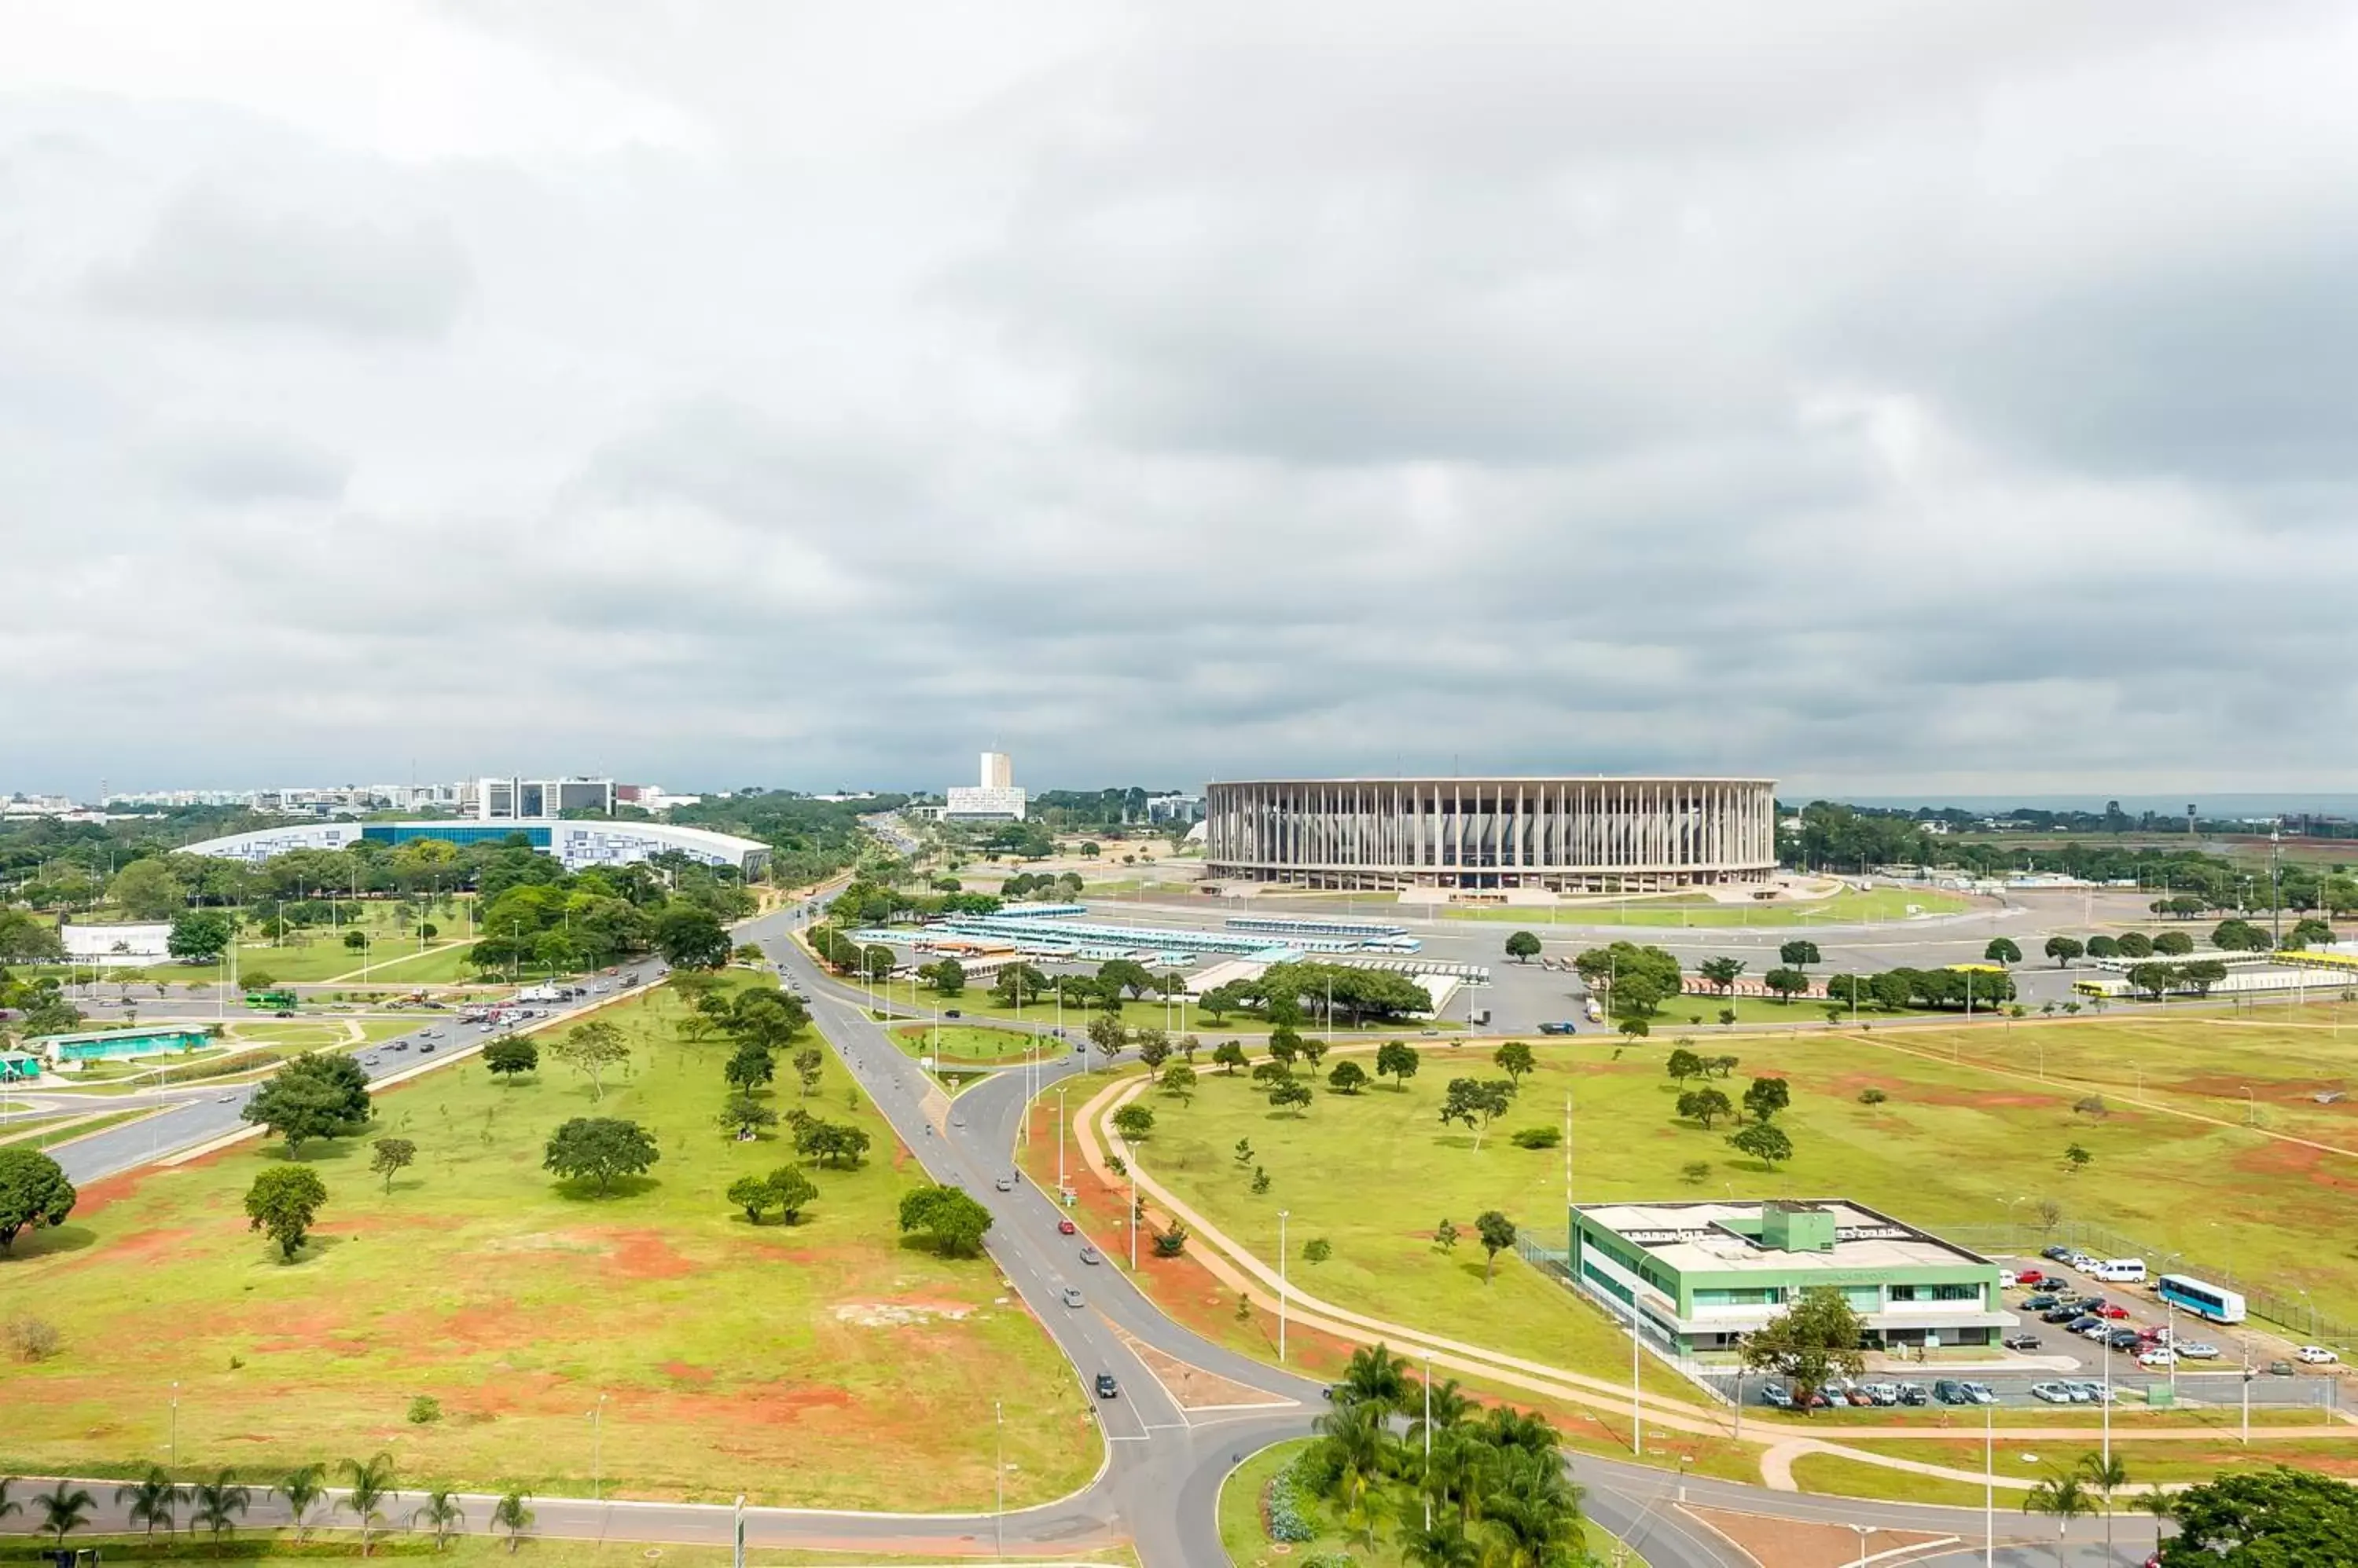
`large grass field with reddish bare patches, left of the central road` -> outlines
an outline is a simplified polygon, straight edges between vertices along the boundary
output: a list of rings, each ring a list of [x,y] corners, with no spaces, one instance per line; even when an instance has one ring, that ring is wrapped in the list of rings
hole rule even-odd
[[[799,1226],[755,1228],[724,1188],[792,1151],[714,1125],[729,1047],[681,1042],[667,990],[606,1016],[632,1063],[604,1103],[554,1066],[495,1085],[455,1063],[382,1094],[380,1137],[417,1144],[391,1195],[363,1141],[307,1146],[330,1205],[290,1266],[241,1214],[285,1160],[276,1141],[101,1181],[66,1226],[21,1236],[0,1316],[50,1316],[64,1349],[0,1368],[0,1474],[160,1460],[177,1379],[186,1467],[387,1448],[413,1478],[580,1495],[604,1401],[604,1483],[623,1495],[988,1507],[1005,1398],[1026,1412],[1009,1504],[1089,1476],[1089,1401],[990,1264],[901,1245],[915,1177],[832,1054],[814,1103],[863,1125],[872,1155],[814,1170]],[[547,1134],[590,1113],[660,1139],[648,1179],[594,1198],[540,1170]],[[406,1419],[415,1396],[441,1419]]]

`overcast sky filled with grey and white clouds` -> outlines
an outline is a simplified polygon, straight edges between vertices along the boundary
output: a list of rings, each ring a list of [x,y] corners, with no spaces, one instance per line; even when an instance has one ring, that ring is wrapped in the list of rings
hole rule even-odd
[[[9,5],[0,790],[2349,788],[2349,5]]]

